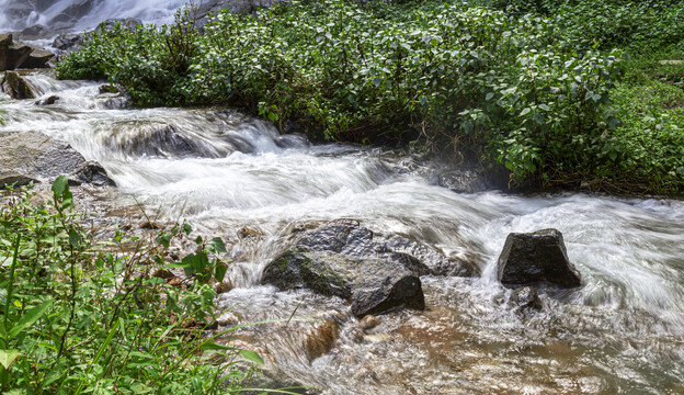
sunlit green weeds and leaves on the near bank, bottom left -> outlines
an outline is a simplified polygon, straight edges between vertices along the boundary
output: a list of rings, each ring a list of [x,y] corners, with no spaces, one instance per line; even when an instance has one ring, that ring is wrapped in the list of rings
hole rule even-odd
[[[192,272],[181,289],[152,275],[166,264],[163,246],[190,226],[160,234],[161,247],[118,229],[96,244],[73,212],[65,177],[53,192],[42,204],[29,191],[0,195],[0,392],[238,392],[251,371],[236,364],[263,361],[206,337],[210,274]],[[218,273],[223,241],[197,244]]]

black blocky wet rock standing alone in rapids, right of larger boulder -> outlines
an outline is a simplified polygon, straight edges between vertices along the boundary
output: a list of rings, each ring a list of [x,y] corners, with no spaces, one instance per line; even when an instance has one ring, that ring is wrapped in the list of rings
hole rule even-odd
[[[499,281],[509,287],[537,283],[581,285],[580,274],[568,259],[562,234],[556,229],[510,234],[497,269]]]

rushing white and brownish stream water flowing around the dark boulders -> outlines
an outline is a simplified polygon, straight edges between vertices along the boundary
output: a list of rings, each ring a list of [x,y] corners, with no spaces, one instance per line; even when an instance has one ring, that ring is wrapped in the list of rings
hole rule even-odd
[[[41,131],[98,160],[118,184],[102,202],[112,211],[135,198],[230,240],[224,325],[309,318],[239,335],[281,383],[324,394],[684,393],[684,202],[459,194],[406,154],[311,145],[224,109],[129,110],[95,82],[27,78],[60,100],[1,102],[0,133]],[[424,276],[428,309],[383,315],[373,328],[344,301],[260,285],[293,226],[341,217],[467,257],[482,275]],[[242,227],[259,236],[238,238]],[[521,313],[495,281],[495,260],[510,232],[547,227],[563,233],[584,285],[543,292],[542,312]]]

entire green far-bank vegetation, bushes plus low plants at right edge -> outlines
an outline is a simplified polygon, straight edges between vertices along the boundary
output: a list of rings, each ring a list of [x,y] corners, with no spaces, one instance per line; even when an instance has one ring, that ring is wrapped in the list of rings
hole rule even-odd
[[[417,142],[515,188],[684,190],[684,65],[658,63],[684,53],[682,1],[295,1],[204,30],[190,14],[95,33],[58,74],[110,79],[135,105],[232,105],[310,136]]]

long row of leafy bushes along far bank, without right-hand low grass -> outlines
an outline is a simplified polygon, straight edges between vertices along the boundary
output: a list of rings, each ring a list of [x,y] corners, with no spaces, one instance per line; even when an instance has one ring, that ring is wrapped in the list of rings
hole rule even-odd
[[[617,125],[604,104],[619,52],[578,52],[540,16],[395,7],[293,2],[258,18],[219,13],[204,34],[183,18],[96,33],[57,70],[106,77],[137,105],[241,106],[346,140],[422,137],[433,151],[505,166],[518,184],[592,165],[586,154]]]

